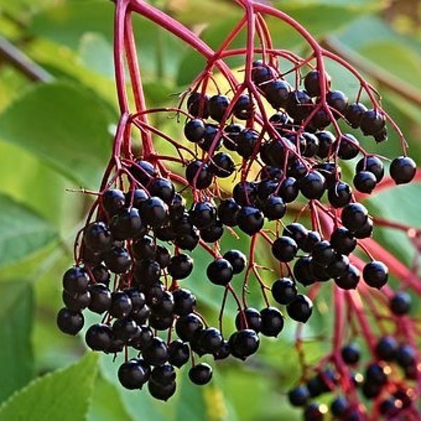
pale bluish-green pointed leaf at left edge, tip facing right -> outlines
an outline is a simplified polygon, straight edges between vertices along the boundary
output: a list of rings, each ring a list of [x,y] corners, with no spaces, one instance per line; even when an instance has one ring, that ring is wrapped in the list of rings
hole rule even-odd
[[[39,215],[0,194],[0,267],[25,258],[56,236],[55,229]]]

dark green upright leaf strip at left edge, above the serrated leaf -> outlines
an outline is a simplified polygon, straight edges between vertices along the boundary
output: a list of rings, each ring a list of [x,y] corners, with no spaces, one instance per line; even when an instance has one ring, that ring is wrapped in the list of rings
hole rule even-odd
[[[32,378],[33,313],[30,283],[18,279],[0,283],[0,401]]]

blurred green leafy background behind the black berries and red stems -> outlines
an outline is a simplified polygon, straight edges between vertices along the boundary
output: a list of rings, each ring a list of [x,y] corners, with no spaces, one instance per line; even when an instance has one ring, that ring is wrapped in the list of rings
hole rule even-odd
[[[241,16],[228,0],[150,3],[201,33],[214,48]],[[410,156],[420,161],[421,2],[272,4],[361,69],[406,134]],[[91,203],[89,196],[69,190],[98,189],[118,119],[113,11],[108,0],[0,0],[0,420],[298,420],[300,410],[286,400],[288,387],[300,377],[293,323],[276,340],[264,340],[246,363],[213,364],[214,378],[206,387],[191,385],[182,370],[178,393],[168,403],[152,400],[147,391],[123,390],[112,356],[86,354],[81,336],[66,337],[55,326],[62,273],[72,265],[74,235]],[[276,46],[305,54],[304,43],[289,29],[274,22],[269,27]],[[135,19],[135,35],[148,105],[176,106],[177,95],[203,61],[146,20]],[[236,44],[241,42],[240,36]],[[238,61],[230,65],[241,67]],[[338,66],[328,71],[335,88],[355,95],[352,77]],[[181,133],[175,120],[159,123]],[[374,150],[397,156],[399,142],[392,134]],[[368,206],[421,225],[416,185],[375,195]],[[402,236],[381,229],[376,236],[410,261]],[[216,320],[221,295],[198,271],[186,286]],[[328,350],[330,312],[326,290],[307,328],[310,363]],[[227,320],[234,315],[229,305]]]

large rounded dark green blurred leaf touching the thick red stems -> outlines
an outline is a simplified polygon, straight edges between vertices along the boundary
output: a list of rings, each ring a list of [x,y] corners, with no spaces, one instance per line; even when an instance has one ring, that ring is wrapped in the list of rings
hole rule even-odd
[[[113,120],[109,107],[83,86],[51,83],[28,91],[0,115],[0,138],[95,188],[111,151],[107,127]]]

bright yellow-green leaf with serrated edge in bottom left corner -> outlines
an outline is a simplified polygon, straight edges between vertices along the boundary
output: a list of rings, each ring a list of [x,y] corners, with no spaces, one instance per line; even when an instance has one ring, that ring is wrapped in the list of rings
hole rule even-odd
[[[0,408],[0,420],[85,420],[97,375],[98,356],[88,353],[78,363],[39,377]]]

